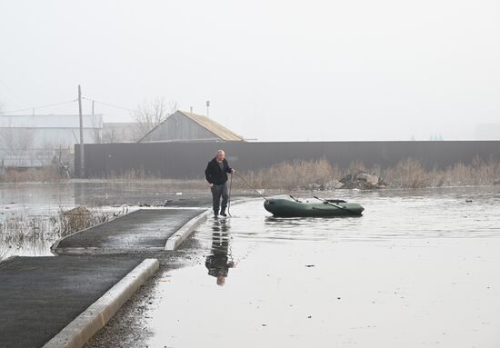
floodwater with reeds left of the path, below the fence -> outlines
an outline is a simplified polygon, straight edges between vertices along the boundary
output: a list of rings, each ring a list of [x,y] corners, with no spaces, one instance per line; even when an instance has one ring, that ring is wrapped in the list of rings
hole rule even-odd
[[[55,232],[61,210],[85,205],[95,214],[111,216],[122,214],[124,204],[131,212],[139,204],[164,204],[176,194],[172,184],[147,182],[0,184],[0,260],[53,255],[50,246],[61,237]]]

